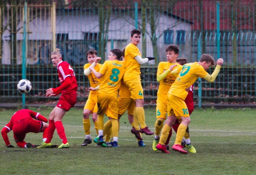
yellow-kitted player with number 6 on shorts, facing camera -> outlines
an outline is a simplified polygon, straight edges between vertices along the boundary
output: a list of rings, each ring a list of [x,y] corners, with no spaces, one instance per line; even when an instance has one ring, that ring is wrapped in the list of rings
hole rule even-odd
[[[166,62],[160,62],[157,67],[157,81],[159,82],[159,87],[157,91],[157,107],[156,116],[157,120],[155,122],[155,138],[152,144],[152,149],[157,150],[156,146],[159,142],[160,132],[163,127],[163,122],[166,119],[167,113],[167,98],[166,95],[175,81],[175,78],[171,74],[171,66],[177,65],[173,69],[180,67],[176,62],[179,54],[179,49],[175,45],[168,45],[166,48]]]

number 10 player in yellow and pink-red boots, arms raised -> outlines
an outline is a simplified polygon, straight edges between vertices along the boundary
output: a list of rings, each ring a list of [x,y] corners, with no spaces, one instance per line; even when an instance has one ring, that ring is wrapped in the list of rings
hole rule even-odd
[[[221,66],[223,65],[223,59],[219,58],[217,60],[215,70],[211,75],[209,75],[206,70],[208,70],[210,66],[214,65],[215,61],[212,56],[209,54],[203,54],[199,62],[184,64],[184,66],[174,69],[171,72],[176,79],[168,92],[168,118],[163,126],[160,141],[156,146],[158,150],[161,150],[164,153],[169,153],[169,151],[166,150],[164,143],[166,143],[169,131],[177,118],[182,121],[178,127],[175,143],[172,146],[172,149],[180,153],[187,153],[187,151],[183,150],[181,147],[181,140],[185,135],[188,124],[190,123],[189,112],[184,101],[188,94],[186,88],[194,84],[198,77],[204,78],[206,81],[211,83],[214,82]]]

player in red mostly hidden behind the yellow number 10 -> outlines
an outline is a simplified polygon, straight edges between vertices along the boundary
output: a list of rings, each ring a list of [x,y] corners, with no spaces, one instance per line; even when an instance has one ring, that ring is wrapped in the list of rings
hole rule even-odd
[[[177,58],[176,61],[177,61],[178,64],[180,64],[182,66],[187,63],[186,58]],[[188,91],[187,91],[188,94],[187,94],[187,97],[184,101],[187,104],[187,109],[188,109],[189,115],[191,115],[191,113],[194,110],[194,94],[193,94],[194,93],[193,92],[194,86],[193,86],[193,84],[187,89],[188,89]],[[175,124],[172,126],[172,129],[177,133],[178,127],[179,127],[179,121],[178,121],[178,119],[176,119]],[[169,133],[169,136],[166,140],[165,145],[169,144],[169,140],[170,140],[171,136],[172,136],[172,130],[170,130],[170,133]],[[194,148],[194,146],[190,142],[188,127],[187,127],[187,130],[186,130],[185,136],[183,137],[183,140],[182,140],[182,146],[187,147],[188,151],[190,153],[196,153],[196,149]],[[169,145],[168,145],[168,147],[169,147]]]

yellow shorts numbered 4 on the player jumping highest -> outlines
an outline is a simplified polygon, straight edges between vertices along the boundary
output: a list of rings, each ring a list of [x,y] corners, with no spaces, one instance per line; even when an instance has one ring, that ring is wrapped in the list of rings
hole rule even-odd
[[[124,82],[131,92],[131,98],[133,99],[143,99],[143,88],[141,85],[141,80],[127,80]]]

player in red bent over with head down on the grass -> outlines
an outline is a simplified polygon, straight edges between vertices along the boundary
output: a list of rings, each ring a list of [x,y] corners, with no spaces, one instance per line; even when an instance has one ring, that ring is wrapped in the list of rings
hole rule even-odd
[[[34,120],[35,118],[36,120]],[[14,113],[11,118],[11,121],[5,125],[2,129],[2,137],[5,141],[5,144],[8,148],[14,147],[11,145],[7,133],[13,130],[14,140],[19,147],[30,148],[36,147],[33,144],[26,143],[24,141],[26,133],[42,133],[43,132],[43,141],[46,140],[48,126],[47,118],[39,114],[39,112],[34,112],[29,109],[21,109]]]

